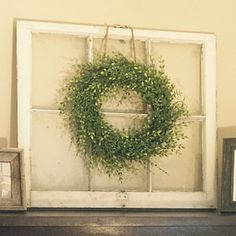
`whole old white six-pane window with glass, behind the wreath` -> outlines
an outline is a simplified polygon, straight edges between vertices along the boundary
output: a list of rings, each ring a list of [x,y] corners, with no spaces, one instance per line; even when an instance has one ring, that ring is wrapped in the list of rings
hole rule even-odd
[[[23,42],[24,33],[28,34]],[[129,33],[123,29],[111,30],[108,53],[118,49],[130,56]],[[92,60],[99,51],[104,28],[19,22],[18,35],[22,36],[18,39],[18,65],[28,56],[26,61],[32,67],[31,71],[23,65],[23,73],[18,74],[20,84],[27,83],[24,88],[19,85],[19,101],[23,102],[19,106],[19,114],[22,114],[19,116],[19,144],[29,150],[26,152],[31,173],[29,206],[60,207],[58,202],[62,202],[62,206],[69,207],[214,207],[215,41],[212,35],[135,30],[138,59],[147,61],[148,53],[154,60],[163,55],[167,73],[186,97],[192,114],[186,132],[191,138],[185,141],[182,155],[163,158],[157,163],[168,175],[158,167],[139,166],[138,175],[127,174],[122,184],[86,168],[82,157],[75,158],[56,106],[60,79],[68,75],[73,61]],[[22,45],[27,49],[24,52],[20,50]],[[124,127],[132,124],[133,111],[123,112],[127,104],[115,111],[111,107],[113,103],[104,107],[110,122]],[[24,109],[27,113],[23,115]],[[26,124],[27,119],[31,123]],[[22,137],[23,126],[28,133]],[[125,191],[127,198],[119,197],[120,191]],[[45,196],[47,202],[43,201]],[[73,201],[70,196],[79,197]],[[107,201],[99,196],[106,196]],[[99,200],[94,203],[94,199]]]

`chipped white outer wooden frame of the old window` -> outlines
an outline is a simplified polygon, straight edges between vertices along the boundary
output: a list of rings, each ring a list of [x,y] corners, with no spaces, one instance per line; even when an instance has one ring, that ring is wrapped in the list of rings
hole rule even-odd
[[[154,42],[193,43],[201,46],[203,137],[202,192],[89,192],[31,191],[31,83],[32,34],[64,34],[88,38],[92,60],[92,37],[102,38],[105,27],[34,21],[17,22],[18,145],[24,149],[28,207],[78,208],[215,208],[216,207],[216,42],[213,34],[134,29],[135,39]],[[111,28],[109,37],[130,39],[127,29]],[[147,48],[150,51],[150,48]]]

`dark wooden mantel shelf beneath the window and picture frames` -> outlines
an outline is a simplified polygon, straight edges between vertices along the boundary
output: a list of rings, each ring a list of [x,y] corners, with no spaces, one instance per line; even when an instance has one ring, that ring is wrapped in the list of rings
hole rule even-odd
[[[236,215],[112,211],[2,213],[0,235],[233,236]]]

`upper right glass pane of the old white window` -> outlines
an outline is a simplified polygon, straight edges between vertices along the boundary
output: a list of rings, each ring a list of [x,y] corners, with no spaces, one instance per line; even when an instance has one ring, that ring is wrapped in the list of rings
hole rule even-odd
[[[152,43],[152,57],[165,60],[165,70],[185,97],[192,115],[201,108],[201,46],[196,44]]]

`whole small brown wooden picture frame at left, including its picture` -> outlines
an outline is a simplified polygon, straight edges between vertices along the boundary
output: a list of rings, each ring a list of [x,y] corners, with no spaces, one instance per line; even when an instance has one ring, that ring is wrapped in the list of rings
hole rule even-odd
[[[0,149],[0,165],[0,211],[26,210],[23,151]],[[7,175],[2,172],[4,168]]]

